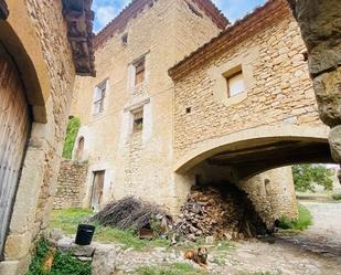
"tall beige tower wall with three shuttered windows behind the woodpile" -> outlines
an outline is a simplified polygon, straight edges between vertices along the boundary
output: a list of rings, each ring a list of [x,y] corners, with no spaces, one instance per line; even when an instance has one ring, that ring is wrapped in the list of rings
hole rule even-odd
[[[97,77],[77,81],[72,110],[82,120],[78,136],[85,138],[89,163],[84,205],[89,204],[93,172],[105,170],[103,204],[137,195],[171,211],[175,208],[173,83],[168,70],[219,33],[202,13],[195,15],[183,0],[154,1],[96,50]],[[147,78],[131,87],[131,63],[145,54]],[[94,88],[104,80],[108,80],[104,112],[93,116]],[[138,107],[143,107],[143,129],[132,134],[131,112]]]

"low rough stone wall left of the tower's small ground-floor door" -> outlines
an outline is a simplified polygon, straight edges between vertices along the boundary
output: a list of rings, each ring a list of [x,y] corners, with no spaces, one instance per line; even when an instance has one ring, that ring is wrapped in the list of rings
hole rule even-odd
[[[61,163],[53,208],[82,208],[86,192],[87,163],[64,159]]]

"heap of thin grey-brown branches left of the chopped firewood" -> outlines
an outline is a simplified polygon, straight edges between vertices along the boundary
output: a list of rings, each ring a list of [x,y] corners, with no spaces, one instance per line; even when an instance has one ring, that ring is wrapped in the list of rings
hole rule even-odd
[[[93,222],[98,222],[104,226],[136,231],[152,229],[156,220],[163,228],[172,224],[172,219],[167,211],[132,197],[108,203],[92,218]]]

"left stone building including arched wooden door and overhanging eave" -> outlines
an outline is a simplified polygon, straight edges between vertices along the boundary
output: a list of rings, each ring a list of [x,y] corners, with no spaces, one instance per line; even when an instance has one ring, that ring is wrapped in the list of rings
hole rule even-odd
[[[0,274],[46,228],[75,75],[94,75],[92,0],[0,0]]]

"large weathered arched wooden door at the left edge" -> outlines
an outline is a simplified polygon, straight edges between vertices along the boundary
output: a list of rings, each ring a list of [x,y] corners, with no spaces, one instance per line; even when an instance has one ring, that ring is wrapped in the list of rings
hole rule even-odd
[[[29,106],[19,72],[0,43],[0,257],[30,129]]]

